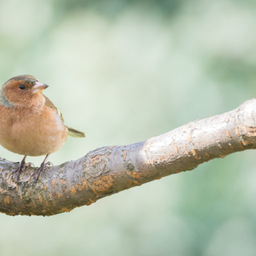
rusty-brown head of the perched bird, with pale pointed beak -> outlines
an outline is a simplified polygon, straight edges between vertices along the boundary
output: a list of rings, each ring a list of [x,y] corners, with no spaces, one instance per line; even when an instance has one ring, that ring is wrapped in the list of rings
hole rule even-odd
[[[0,104],[7,107],[35,105],[44,100],[42,91],[48,85],[31,75],[20,75],[5,82],[0,91]]]

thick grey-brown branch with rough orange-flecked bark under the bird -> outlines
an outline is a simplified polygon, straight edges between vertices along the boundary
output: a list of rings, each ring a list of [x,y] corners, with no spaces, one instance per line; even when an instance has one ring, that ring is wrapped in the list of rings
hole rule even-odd
[[[192,170],[228,154],[256,148],[256,99],[227,113],[189,122],[171,132],[127,146],[103,147],[60,166],[36,169],[0,159],[0,211],[53,215],[89,205],[121,190]]]

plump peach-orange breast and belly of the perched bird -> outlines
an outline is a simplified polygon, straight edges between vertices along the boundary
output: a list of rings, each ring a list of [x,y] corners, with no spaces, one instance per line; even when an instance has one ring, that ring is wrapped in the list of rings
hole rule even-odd
[[[39,111],[4,110],[0,106],[0,144],[4,148],[25,156],[42,156],[64,145],[67,129],[53,109],[44,106]]]

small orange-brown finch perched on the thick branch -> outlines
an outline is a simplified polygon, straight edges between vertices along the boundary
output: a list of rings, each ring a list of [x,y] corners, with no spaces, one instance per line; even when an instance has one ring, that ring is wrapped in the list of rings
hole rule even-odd
[[[45,159],[37,170],[35,182],[50,162],[49,155],[58,151],[67,136],[85,137],[64,124],[58,108],[42,92],[49,86],[32,75],[10,78],[0,89],[0,145],[23,155],[17,171],[17,182],[27,156],[43,156]]]

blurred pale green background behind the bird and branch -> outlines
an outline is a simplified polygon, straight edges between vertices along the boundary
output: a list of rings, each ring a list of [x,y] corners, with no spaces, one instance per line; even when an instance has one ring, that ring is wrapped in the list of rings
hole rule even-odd
[[[31,74],[86,133],[75,160],[256,95],[256,2],[0,1],[0,82]],[[0,156],[22,156],[0,148]],[[29,158],[39,165],[43,157]],[[256,254],[255,153],[216,159],[51,217],[0,215],[0,255]]]

